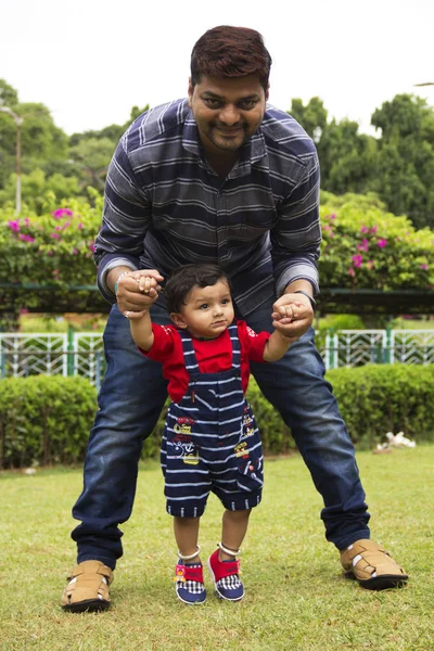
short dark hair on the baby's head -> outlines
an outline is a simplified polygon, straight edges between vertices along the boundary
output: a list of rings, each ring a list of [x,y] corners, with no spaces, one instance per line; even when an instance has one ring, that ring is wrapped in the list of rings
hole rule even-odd
[[[195,286],[207,288],[222,280],[230,289],[229,279],[217,265],[184,265],[173,271],[164,288],[164,301],[169,315],[181,311],[182,305]]]

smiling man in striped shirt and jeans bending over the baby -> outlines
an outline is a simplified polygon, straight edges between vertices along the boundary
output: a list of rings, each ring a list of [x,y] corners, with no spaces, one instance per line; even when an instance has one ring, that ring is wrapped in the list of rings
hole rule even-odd
[[[128,273],[143,269],[163,284],[188,263],[225,269],[235,316],[256,332],[271,330],[269,315],[277,308],[306,305],[304,318],[281,321],[282,333],[298,341],[280,361],[252,365],[252,372],[292,430],[323,498],[326,537],[341,551],[345,572],[372,589],[408,578],[369,539],[354,447],[315,348],[318,157],[291,116],[267,107],[270,65],[257,31],[209,29],[193,48],[188,100],[141,115],[114,154],[95,261],[100,290],[116,303],[104,333],[108,368],[85,487],[73,510],[81,524],[72,534],[78,565],[64,590],[65,610],[110,604],[108,586],[123,553],[118,525],[131,513],[142,442],[167,395],[161,367],[138,353],[130,337],[127,319],[152,297]],[[169,322],[164,296],[152,319]]]

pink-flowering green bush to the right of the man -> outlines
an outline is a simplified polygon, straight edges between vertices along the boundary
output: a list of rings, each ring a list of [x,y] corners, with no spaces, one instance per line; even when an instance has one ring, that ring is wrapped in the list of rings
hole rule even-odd
[[[345,197],[344,197],[345,199]],[[434,232],[375,205],[328,195],[320,208],[321,286],[373,290],[434,288]],[[431,265],[430,265],[431,261]]]

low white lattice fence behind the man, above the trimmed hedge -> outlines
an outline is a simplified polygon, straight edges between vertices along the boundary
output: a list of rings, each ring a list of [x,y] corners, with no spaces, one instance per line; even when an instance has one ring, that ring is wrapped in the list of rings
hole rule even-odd
[[[366,363],[429,365],[434,330],[341,330],[320,350],[326,368]],[[105,358],[100,332],[0,333],[0,378],[81,375],[100,387]]]

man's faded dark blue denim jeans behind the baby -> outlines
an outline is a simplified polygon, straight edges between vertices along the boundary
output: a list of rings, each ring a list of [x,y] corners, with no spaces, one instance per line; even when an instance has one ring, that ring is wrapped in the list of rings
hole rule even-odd
[[[272,330],[272,301],[245,320],[256,332]],[[156,323],[169,323],[158,305]],[[99,394],[99,411],[85,461],[84,490],[73,516],[81,521],[72,533],[78,562],[100,560],[114,569],[122,557],[119,524],[131,514],[143,441],[151,434],[167,397],[159,363],[141,355],[129,322],[114,305],[104,332],[107,371]],[[369,538],[365,503],[353,444],[310,329],[286,355],[272,363],[252,363],[266,398],[291,427],[298,450],[323,499],[326,537],[339,549]],[[260,431],[260,422],[258,423]]]

